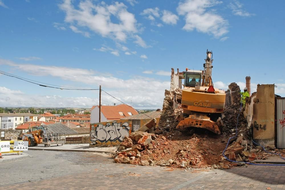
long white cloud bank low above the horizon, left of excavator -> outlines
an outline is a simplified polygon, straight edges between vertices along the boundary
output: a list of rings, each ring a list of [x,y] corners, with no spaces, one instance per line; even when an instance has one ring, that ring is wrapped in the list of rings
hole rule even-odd
[[[111,95],[120,98],[125,103],[133,103],[137,109],[157,109],[162,107],[164,99],[164,90],[170,88],[169,81],[160,81],[153,78],[135,76],[129,79],[121,79],[100,72],[70,68],[59,66],[42,66],[36,64],[17,64],[9,60],[0,59],[0,65],[7,65],[22,73],[35,75],[38,74],[38,81],[41,81],[41,76],[57,77],[64,81],[72,82],[76,87],[76,82],[81,85],[99,86],[110,93]],[[62,72],[64,71],[64,72]],[[74,77],[76,76],[76,77]],[[6,77],[6,76],[3,76]],[[27,77],[27,76],[23,76]],[[27,77],[28,78],[28,77]],[[58,80],[58,85],[60,80]],[[139,84],[139,85],[138,85]],[[90,107],[98,105],[98,100],[88,97],[60,97],[61,91],[56,95],[47,95],[46,91],[41,92],[38,85],[34,86],[34,91],[37,93],[25,95],[1,95],[0,105],[2,106],[34,106],[34,107]],[[45,87],[46,88],[46,87]],[[153,89],[156,89],[153,91]],[[53,92],[54,93],[54,92]],[[86,93],[86,92],[84,92]],[[88,92],[90,97],[97,97],[97,91]],[[47,96],[46,96],[47,95]],[[86,96],[86,95],[84,95]],[[6,101],[5,98],[10,97],[13,101]],[[102,104],[112,105],[113,103],[119,104],[117,100],[102,92]]]

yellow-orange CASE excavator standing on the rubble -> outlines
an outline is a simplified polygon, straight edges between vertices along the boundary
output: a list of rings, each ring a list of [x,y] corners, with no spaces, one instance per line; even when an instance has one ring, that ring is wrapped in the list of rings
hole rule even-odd
[[[187,127],[205,128],[215,134],[221,134],[222,125],[217,122],[225,106],[225,91],[214,88],[212,81],[213,53],[206,52],[204,70],[184,71],[181,108],[183,114],[178,117],[177,129]]]

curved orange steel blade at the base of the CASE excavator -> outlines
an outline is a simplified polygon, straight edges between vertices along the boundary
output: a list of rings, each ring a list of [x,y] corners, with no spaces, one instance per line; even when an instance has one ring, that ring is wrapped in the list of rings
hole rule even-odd
[[[189,117],[181,119],[176,126],[177,129],[183,129],[187,127],[205,128],[213,133],[221,134],[219,126],[217,126],[214,121],[210,120],[210,118],[205,115],[189,115]]]

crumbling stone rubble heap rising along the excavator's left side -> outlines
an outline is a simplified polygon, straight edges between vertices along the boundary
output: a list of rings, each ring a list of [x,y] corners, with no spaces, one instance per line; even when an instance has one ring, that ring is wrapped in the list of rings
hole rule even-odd
[[[178,108],[173,109],[174,96],[177,99],[181,99],[182,89],[175,89],[175,91],[165,90],[165,98],[163,100],[163,111],[160,116],[158,128],[156,128],[156,134],[164,134],[167,132],[176,132],[176,125],[178,121],[176,118],[182,113],[181,105]]]

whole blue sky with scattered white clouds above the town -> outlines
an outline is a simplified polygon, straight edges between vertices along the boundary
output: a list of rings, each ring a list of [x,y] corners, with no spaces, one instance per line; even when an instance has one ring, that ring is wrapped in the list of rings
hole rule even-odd
[[[215,87],[277,85],[285,96],[284,1],[0,0],[0,68],[54,85],[98,88],[136,109],[162,107],[171,68],[203,69]],[[0,106],[91,107],[98,91],[0,75]],[[103,93],[102,104],[119,103]]]

